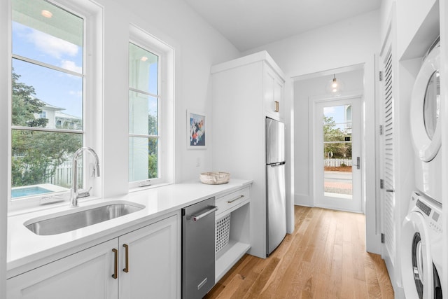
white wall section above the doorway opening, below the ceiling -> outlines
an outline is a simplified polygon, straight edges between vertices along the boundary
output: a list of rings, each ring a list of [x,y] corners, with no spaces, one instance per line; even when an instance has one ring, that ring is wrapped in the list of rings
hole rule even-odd
[[[379,49],[379,11],[251,49],[267,50],[290,77],[372,60]]]

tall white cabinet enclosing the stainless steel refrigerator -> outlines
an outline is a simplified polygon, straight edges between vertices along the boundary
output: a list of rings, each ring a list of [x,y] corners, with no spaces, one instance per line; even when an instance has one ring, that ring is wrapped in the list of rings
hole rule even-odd
[[[265,118],[283,121],[285,76],[266,51],[217,64],[211,74],[213,168],[253,179],[249,253],[265,258]]]

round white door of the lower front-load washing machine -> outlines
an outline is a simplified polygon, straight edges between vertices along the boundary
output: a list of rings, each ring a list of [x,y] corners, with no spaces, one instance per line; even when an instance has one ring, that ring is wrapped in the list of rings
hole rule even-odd
[[[423,215],[416,211],[407,215],[401,236],[401,274],[406,298],[435,298],[433,259]]]

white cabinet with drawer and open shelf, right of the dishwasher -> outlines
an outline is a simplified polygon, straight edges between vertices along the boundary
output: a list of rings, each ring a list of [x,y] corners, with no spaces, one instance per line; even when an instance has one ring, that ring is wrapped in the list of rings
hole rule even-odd
[[[250,198],[250,187],[216,198],[216,282],[251,248]]]

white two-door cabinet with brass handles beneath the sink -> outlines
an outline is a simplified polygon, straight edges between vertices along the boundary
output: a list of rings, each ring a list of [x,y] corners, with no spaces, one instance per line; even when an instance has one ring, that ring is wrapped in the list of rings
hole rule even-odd
[[[12,277],[8,298],[180,298],[178,225],[174,215]]]

